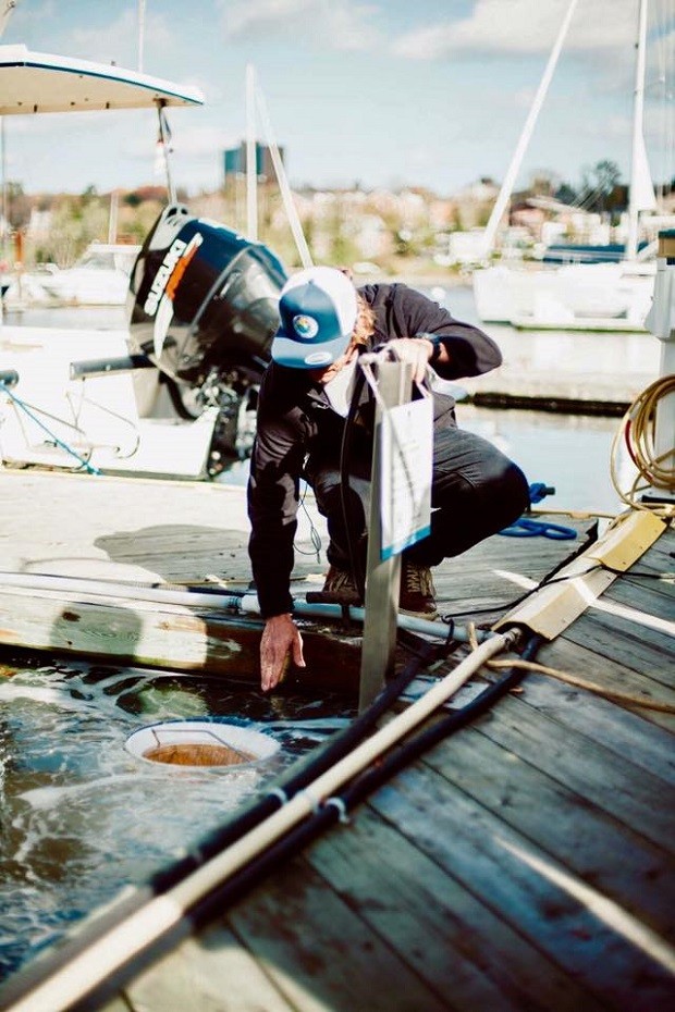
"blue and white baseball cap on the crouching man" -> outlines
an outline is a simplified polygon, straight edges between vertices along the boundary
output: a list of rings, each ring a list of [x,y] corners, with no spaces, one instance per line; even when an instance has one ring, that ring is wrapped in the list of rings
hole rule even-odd
[[[291,369],[324,369],[346,350],[356,324],[356,288],[334,267],[309,267],[279,296],[281,324],[271,355]]]

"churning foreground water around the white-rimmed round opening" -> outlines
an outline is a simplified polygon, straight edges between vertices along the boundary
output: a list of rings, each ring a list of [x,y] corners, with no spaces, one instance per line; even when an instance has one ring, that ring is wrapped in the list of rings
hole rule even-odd
[[[7,653],[0,711],[0,982],[121,889],[189,853],[354,715],[342,699],[267,699],[204,675]],[[216,737],[232,726],[262,735],[274,751],[214,766],[130,751],[143,728],[197,720]]]

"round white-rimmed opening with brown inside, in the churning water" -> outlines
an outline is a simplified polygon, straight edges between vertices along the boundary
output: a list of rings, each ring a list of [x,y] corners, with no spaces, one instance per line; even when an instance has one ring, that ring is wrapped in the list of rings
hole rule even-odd
[[[169,720],[135,731],[126,749],[137,758],[170,766],[249,766],[279,751],[260,731],[216,720]]]

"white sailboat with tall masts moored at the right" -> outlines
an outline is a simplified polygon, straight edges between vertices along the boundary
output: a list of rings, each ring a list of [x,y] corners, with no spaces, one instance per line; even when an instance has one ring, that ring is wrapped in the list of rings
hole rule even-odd
[[[498,225],[507,207],[520,161],[543,104],[577,3],[578,0],[572,0],[567,9],[516,155],[486,229],[486,254],[494,246]],[[648,247],[638,255],[639,215],[642,211],[653,211],[656,208],[642,132],[647,14],[647,0],[639,0],[629,234],[625,258],[617,263],[569,263],[536,270],[498,264],[477,270],[474,274],[474,294],[478,314],[483,321],[507,322],[514,326],[537,330],[645,330],[645,318],[651,306],[656,271],[651,248]]]

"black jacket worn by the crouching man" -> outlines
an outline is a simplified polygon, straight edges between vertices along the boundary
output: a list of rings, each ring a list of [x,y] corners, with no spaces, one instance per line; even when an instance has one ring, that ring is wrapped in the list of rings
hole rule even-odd
[[[369,349],[397,337],[440,334],[450,356],[447,363],[437,368],[442,379],[480,375],[501,365],[501,353],[487,334],[454,320],[447,310],[414,288],[402,284],[366,285],[359,293],[376,313]],[[361,399],[360,422],[370,429],[372,403],[367,386]],[[453,399],[438,393],[433,399],[434,425],[454,424]],[[286,369],[275,362],[268,367],[260,387],[248,482],[248,552],[265,618],[293,609],[289,588],[305,459],[320,455],[324,460],[339,461],[344,424],[345,420],[330,407],[323,388],[305,370]],[[361,448],[365,442],[359,440]]]

